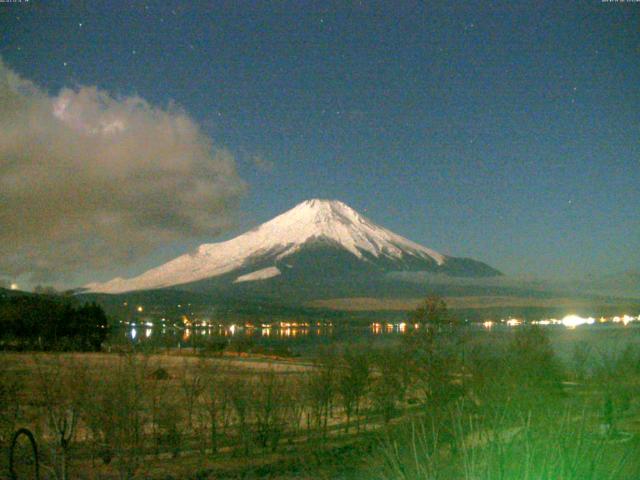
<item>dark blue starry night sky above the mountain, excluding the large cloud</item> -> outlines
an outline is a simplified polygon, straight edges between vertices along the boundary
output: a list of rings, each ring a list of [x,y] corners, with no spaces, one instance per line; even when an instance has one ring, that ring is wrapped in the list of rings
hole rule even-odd
[[[159,213],[162,241],[65,282],[140,273],[316,197],[510,275],[640,268],[640,3],[255,3],[0,4],[4,66],[41,94],[97,87],[180,111],[237,168],[208,200],[225,205],[211,234]],[[22,158],[8,156],[5,181]],[[15,259],[37,255],[4,241],[5,276],[35,281]]]

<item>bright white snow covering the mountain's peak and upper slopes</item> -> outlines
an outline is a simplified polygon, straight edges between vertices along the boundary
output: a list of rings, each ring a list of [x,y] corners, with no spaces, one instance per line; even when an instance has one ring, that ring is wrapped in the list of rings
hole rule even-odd
[[[180,285],[220,276],[272,256],[281,260],[314,240],[328,240],[355,257],[402,260],[413,256],[443,265],[448,257],[397,235],[335,200],[307,200],[274,219],[225,242],[203,244],[164,265],[130,279],[115,278],[85,286],[93,292],[121,293]],[[277,270],[277,272],[276,272]],[[236,282],[279,275],[267,267],[239,276]]]

